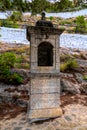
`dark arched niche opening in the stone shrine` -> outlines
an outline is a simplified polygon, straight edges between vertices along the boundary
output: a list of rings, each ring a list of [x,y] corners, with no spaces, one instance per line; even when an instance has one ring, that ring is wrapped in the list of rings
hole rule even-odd
[[[42,42],[38,46],[38,66],[53,66],[53,45]]]

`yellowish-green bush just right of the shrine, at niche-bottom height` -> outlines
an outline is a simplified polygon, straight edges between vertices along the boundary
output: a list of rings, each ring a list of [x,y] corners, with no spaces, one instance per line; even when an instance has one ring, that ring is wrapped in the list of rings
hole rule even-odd
[[[61,72],[70,71],[70,70],[77,68],[78,66],[79,65],[76,60],[69,59],[67,62],[60,65],[60,71]]]

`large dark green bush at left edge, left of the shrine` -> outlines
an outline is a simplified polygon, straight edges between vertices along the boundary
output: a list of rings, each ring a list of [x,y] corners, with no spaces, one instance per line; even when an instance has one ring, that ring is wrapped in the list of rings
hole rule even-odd
[[[11,73],[10,69],[14,67],[16,56],[13,52],[0,54],[0,81],[7,84],[20,84],[23,79],[17,73]]]

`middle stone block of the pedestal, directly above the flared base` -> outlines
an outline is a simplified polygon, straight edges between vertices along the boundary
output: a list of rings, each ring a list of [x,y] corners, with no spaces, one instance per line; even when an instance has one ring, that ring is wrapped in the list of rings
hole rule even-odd
[[[33,94],[30,100],[31,109],[57,108],[60,105],[60,94]]]

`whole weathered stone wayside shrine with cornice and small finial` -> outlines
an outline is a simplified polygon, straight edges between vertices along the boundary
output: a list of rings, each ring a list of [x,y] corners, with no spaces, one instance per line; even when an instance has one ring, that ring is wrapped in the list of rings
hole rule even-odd
[[[42,19],[27,27],[30,41],[30,122],[62,115],[60,108],[60,34],[51,21]]]

